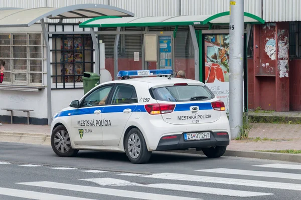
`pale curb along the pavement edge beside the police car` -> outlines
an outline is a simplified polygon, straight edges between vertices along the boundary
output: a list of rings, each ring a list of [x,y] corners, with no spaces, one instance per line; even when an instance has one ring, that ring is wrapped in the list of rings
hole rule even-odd
[[[0,142],[17,142],[17,143],[27,143],[27,144],[41,144],[41,145],[48,145],[48,146],[51,145],[50,135],[38,134],[38,133],[32,134],[32,133],[0,132]],[[166,151],[166,152],[204,155],[203,151],[197,151],[196,149],[174,150],[174,151]],[[289,153],[226,150],[223,156],[279,160],[279,161],[301,163],[301,155],[289,154]]]

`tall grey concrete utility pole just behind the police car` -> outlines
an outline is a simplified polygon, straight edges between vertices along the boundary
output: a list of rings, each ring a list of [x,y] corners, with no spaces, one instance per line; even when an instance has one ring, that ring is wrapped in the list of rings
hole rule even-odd
[[[229,123],[231,139],[240,134],[243,120],[244,0],[230,0]]]

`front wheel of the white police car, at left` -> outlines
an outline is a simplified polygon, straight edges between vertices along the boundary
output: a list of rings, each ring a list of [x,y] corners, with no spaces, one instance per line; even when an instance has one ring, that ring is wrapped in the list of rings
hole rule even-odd
[[[78,152],[78,149],[72,148],[69,133],[64,125],[53,129],[50,140],[53,151],[60,157],[72,157]]]

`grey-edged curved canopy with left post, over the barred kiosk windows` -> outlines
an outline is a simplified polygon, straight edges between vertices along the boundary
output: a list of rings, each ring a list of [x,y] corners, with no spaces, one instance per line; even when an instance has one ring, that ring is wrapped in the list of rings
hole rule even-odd
[[[78,4],[73,6],[67,6],[63,8],[34,8],[34,9],[21,9],[21,8],[1,8],[0,9],[0,30],[12,27],[31,27],[35,23],[40,22],[42,26],[43,38],[46,46],[47,54],[47,68],[46,77],[47,80],[47,116],[48,124],[51,124],[52,109],[51,109],[51,65],[50,65],[50,45],[49,45],[49,32],[45,25],[44,19],[59,20],[61,23],[64,19],[91,19],[95,17],[132,17],[133,13],[128,12],[117,7],[99,4]],[[94,31],[93,29],[91,29]],[[93,38],[94,32],[91,32]],[[57,33],[60,34],[60,33]],[[61,33],[66,34],[66,33]],[[74,34],[74,33],[71,33]],[[43,55],[42,55],[43,56]],[[99,59],[98,59],[99,60]],[[97,61],[97,59],[96,59]],[[96,66],[99,64],[96,63]],[[96,67],[97,69],[97,67]],[[98,68],[99,69],[99,68]],[[7,86],[9,87],[9,86]],[[20,86],[20,90],[28,90],[29,87]],[[32,87],[32,89],[37,89]]]

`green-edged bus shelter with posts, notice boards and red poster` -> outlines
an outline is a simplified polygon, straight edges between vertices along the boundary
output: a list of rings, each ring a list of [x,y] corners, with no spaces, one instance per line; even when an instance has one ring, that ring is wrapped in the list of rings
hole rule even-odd
[[[191,35],[194,49],[194,77],[192,79],[206,83],[209,88],[218,88],[219,91],[213,91],[218,94],[218,98],[225,102],[228,107],[227,91],[229,92],[229,57],[226,55],[229,51],[225,47],[225,41],[221,38],[229,38],[229,30],[234,29],[230,26],[230,12],[223,12],[216,15],[201,16],[165,16],[165,17],[128,17],[103,16],[93,18],[79,25],[80,28],[99,28],[110,29],[110,31],[97,31],[97,35],[115,35],[114,41],[114,70],[111,72],[114,79],[117,79],[118,73],[118,42],[120,35],[138,35],[143,36],[141,45],[141,67],[139,70],[148,70],[148,63],[156,63],[157,69],[175,70],[175,45],[178,30],[186,27]],[[252,25],[264,24],[264,20],[250,13],[244,13],[245,31],[242,38],[245,42],[244,52],[244,96],[247,97],[247,45],[252,32]],[[141,31],[131,31],[128,28],[140,28]],[[169,27],[170,31],[152,31],[154,27]],[[129,31],[126,31],[127,30]],[[154,29],[153,29],[154,30]],[[91,32],[92,33],[92,32]],[[94,33],[92,33],[94,35]],[[228,35],[228,36],[227,36]],[[211,37],[211,39],[210,39]],[[163,38],[163,40],[161,40]],[[97,41],[95,41],[97,42]],[[223,43],[223,44],[222,44]],[[214,47],[215,55],[208,56],[208,45]],[[98,45],[95,45],[97,48]],[[170,47],[170,48],[169,48]],[[181,48],[181,47],[180,47]],[[99,50],[98,50],[99,52]],[[221,56],[221,59],[213,57]],[[222,58],[223,56],[223,58]],[[102,56],[103,57],[103,56]],[[215,61],[212,61],[215,60]],[[225,64],[228,62],[228,66]],[[102,62],[102,61],[100,61]],[[166,65],[169,63],[169,65]],[[123,65],[123,64],[121,64]],[[226,66],[225,66],[226,65]],[[222,66],[222,67],[218,67]],[[100,66],[100,68],[103,66]],[[120,65],[119,65],[120,67]],[[206,69],[205,69],[206,68]],[[213,72],[214,71],[214,72]],[[211,76],[210,73],[213,73]],[[214,75],[219,73],[219,77]],[[211,77],[210,77],[211,76]],[[214,77],[215,76],[215,77]],[[218,79],[218,81],[216,81]],[[247,110],[247,98],[244,98],[244,107]]]

